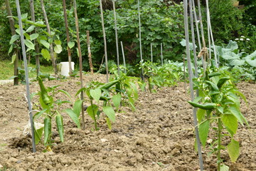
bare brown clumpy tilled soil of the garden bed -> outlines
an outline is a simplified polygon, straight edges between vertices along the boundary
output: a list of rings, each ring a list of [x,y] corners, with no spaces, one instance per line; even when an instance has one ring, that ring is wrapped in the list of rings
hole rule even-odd
[[[87,75],[84,81],[105,82],[100,74]],[[64,81],[46,81],[46,86],[60,86],[73,97],[80,89],[79,78]],[[31,93],[38,90],[38,83],[31,83]],[[256,170],[256,85],[239,83],[248,105],[242,103],[242,113],[250,128],[240,126],[235,139],[240,142],[240,157],[231,163],[223,151],[225,165],[233,171]],[[187,90],[186,90],[187,91]],[[85,130],[64,115],[65,142],[60,142],[56,129],[53,152],[31,152],[31,135],[23,135],[28,124],[28,105],[25,86],[0,85],[0,170],[198,170],[195,152],[192,108],[183,83],[172,88],[161,88],[157,93],[139,93],[137,111],[122,107],[116,113],[112,130],[100,118],[99,131],[92,131],[93,122],[85,116]],[[65,95],[58,98],[68,100]],[[33,100],[36,102],[36,99]],[[63,108],[70,108],[64,105]],[[214,137],[211,133],[210,138]],[[224,140],[225,144],[228,140]],[[214,155],[203,149],[205,170],[216,170]]]

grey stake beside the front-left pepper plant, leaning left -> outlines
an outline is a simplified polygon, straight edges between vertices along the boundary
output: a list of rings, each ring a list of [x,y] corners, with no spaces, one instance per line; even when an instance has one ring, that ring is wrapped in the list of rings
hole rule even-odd
[[[36,142],[35,142],[35,135],[34,135],[34,127],[33,127],[33,113],[32,113],[29,80],[28,80],[28,64],[26,59],[26,47],[24,43],[23,26],[21,21],[21,8],[18,0],[16,0],[16,9],[18,13],[18,26],[20,28],[20,33],[21,33],[21,48],[22,48],[23,63],[24,63],[25,76],[26,76],[26,98],[28,100],[29,119],[31,122],[32,147],[33,147],[33,152],[36,152]]]

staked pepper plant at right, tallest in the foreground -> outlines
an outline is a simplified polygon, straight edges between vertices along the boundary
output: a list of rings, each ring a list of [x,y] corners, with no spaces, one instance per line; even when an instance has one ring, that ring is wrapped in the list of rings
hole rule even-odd
[[[221,150],[228,150],[231,162],[235,162],[239,157],[240,145],[234,135],[238,130],[238,122],[241,125],[248,125],[240,111],[240,98],[247,103],[246,98],[230,81],[230,77],[214,68],[208,68],[205,76],[195,78],[193,84],[199,96],[188,103],[198,108],[199,138],[203,147],[206,147],[210,129],[215,131],[216,136],[213,138],[210,153],[217,156],[218,170],[222,170],[228,166],[225,166],[220,158]],[[230,138],[227,146],[223,145],[224,137]]]

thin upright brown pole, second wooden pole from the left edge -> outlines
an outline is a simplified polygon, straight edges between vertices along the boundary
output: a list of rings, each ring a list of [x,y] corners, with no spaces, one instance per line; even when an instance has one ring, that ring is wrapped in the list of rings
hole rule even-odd
[[[31,19],[33,22],[36,22],[33,0],[29,1],[29,7],[31,10]],[[36,33],[36,28],[32,33]],[[39,46],[38,46],[38,42],[36,40],[34,40],[33,42],[35,43],[35,50],[36,50],[36,76],[38,76],[39,72],[40,72]]]

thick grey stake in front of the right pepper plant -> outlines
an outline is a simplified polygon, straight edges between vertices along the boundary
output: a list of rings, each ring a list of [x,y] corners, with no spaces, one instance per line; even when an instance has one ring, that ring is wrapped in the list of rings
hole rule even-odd
[[[185,25],[185,36],[186,36],[186,56],[188,60],[188,76],[189,76],[189,87],[191,91],[191,100],[194,100],[194,92],[193,92],[193,71],[191,67],[191,56],[189,51],[189,34],[188,34],[188,0],[183,1],[184,5],[184,25]],[[198,156],[199,156],[199,165],[201,171],[203,171],[203,157],[201,152],[201,143],[199,140],[199,134],[198,134],[198,122],[196,118],[196,108],[193,108],[193,123],[195,126],[195,132],[196,132],[196,142],[198,146]]]

